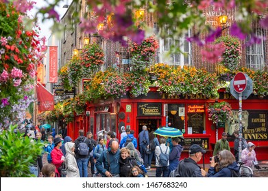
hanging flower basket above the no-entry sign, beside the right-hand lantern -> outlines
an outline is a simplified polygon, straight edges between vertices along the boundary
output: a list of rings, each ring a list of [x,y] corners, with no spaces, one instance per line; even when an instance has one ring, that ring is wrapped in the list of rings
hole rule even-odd
[[[221,64],[229,70],[233,71],[239,68],[239,62],[241,61],[241,44],[239,39],[230,35],[221,36],[215,40],[215,43],[223,42],[226,50],[223,52]]]

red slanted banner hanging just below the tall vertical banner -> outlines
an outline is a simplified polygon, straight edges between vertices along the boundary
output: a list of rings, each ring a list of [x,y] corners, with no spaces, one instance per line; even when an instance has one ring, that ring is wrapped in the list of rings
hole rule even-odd
[[[54,96],[45,87],[36,84],[36,93],[39,111],[52,111],[54,109]]]

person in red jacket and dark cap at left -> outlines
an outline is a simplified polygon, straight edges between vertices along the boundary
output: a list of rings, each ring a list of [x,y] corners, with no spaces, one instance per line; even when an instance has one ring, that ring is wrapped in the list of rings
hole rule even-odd
[[[51,151],[52,163],[56,166],[56,173],[61,175],[62,162],[64,162],[64,156],[60,147],[62,146],[62,139],[57,137],[54,139],[55,147]],[[57,172],[58,171],[58,172]]]

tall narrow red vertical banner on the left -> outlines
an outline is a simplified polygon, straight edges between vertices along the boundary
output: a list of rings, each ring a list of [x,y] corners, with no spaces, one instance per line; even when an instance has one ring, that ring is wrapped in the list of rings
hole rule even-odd
[[[49,46],[49,83],[58,82],[58,46]]]

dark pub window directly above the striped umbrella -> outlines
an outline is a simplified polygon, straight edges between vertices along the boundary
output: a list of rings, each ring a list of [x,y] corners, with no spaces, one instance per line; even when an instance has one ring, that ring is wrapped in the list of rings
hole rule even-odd
[[[184,104],[168,104],[168,123],[172,128],[184,129]]]

